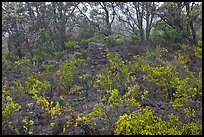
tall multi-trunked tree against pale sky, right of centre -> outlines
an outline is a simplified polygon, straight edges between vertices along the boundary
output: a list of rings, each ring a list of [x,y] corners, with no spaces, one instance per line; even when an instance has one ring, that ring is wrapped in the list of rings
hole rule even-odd
[[[156,5],[154,2],[127,2],[117,3],[120,14],[119,20],[123,22],[126,30],[138,35],[140,41],[149,41],[152,22],[155,18]],[[145,26],[146,24],[146,26]]]

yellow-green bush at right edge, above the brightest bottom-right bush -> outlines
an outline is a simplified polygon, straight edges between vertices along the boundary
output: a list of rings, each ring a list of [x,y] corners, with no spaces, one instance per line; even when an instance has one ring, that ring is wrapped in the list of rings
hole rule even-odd
[[[192,72],[185,66],[184,61],[179,58],[180,67],[182,72],[178,71],[177,66],[167,65],[163,66],[150,66],[142,65],[141,71],[146,74],[143,76],[144,80],[148,80],[150,84],[157,85],[157,91],[169,92],[170,88],[175,88],[176,93],[173,96],[176,98],[171,104],[174,107],[182,107],[185,102],[190,102],[190,98],[201,100],[201,78],[196,78]],[[168,63],[166,63],[168,64]],[[197,84],[196,84],[197,82]],[[196,86],[199,85],[199,86]],[[150,85],[151,87],[151,85]],[[154,89],[155,90],[155,89]]]

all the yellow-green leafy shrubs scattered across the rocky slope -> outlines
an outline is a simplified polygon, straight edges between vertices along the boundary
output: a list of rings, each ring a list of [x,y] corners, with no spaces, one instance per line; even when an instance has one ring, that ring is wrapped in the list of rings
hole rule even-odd
[[[89,42],[84,40],[82,43]],[[120,37],[104,37],[101,39],[103,44],[120,45],[123,43]],[[78,42],[68,41],[66,47],[76,46]],[[185,47],[183,47],[185,48]],[[160,50],[160,49],[157,49]],[[194,53],[197,58],[202,58],[202,42],[195,46]],[[194,110],[189,104],[194,101],[202,100],[202,71],[195,76],[186,66],[190,61],[190,57],[179,52],[174,57],[173,62],[165,61],[160,58],[158,53],[146,52],[145,56],[134,56],[133,61],[122,60],[119,54],[108,53],[108,66],[103,68],[95,77],[93,88],[96,90],[105,90],[107,96],[100,98],[102,102],[95,104],[93,110],[86,114],[78,114],[75,126],[79,124],[91,124],[92,127],[97,126],[97,121],[102,121],[105,128],[114,128],[114,134],[126,135],[182,135],[182,134],[201,134],[202,125],[199,122],[187,122],[181,124],[180,118],[175,114],[169,114],[168,121],[164,121],[161,117],[155,116],[153,110],[149,107],[141,108],[136,98],[140,96],[145,99],[149,94],[152,85],[156,85],[155,92],[166,94],[175,89],[171,95],[170,104],[177,109],[184,109],[185,114],[189,118],[194,118]],[[152,63],[156,62],[155,64]],[[30,60],[21,59],[15,62],[15,66],[21,70],[25,66],[32,64]],[[7,65],[6,65],[7,66]],[[54,74],[54,79],[59,83],[60,90],[68,94],[74,86],[73,70],[77,70],[85,66],[83,59],[70,55],[69,61],[59,63],[59,68]],[[8,67],[8,66],[7,66]],[[46,69],[53,66],[44,66]],[[182,71],[179,71],[181,70]],[[137,73],[143,74],[143,80],[148,82],[148,86],[141,92],[140,86],[136,83],[134,76]],[[36,75],[37,76],[37,75]],[[51,84],[47,81],[40,81],[36,77],[28,77],[24,84],[16,83],[13,88],[3,84],[2,88],[2,119],[5,121],[9,117],[21,109],[21,105],[15,103],[11,97],[11,93],[15,88],[19,93],[32,95],[32,98],[44,109],[51,117],[50,126],[54,127],[54,116],[61,115],[63,108],[60,103],[48,101],[46,92],[50,91]],[[18,92],[16,91],[16,92]],[[172,98],[173,97],[173,98]],[[20,98],[20,97],[19,97]],[[107,104],[108,102],[108,104]],[[55,104],[55,105],[54,105]],[[124,104],[126,107],[124,107]],[[115,118],[111,118],[115,116]],[[67,121],[69,127],[71,119]],[[24,120],[27,126],[32,126],[32,121]],[[32,124],[28,124],[32,123]],[[72,123],[73,124],[73,123]],[[31,133],[31,131],[27,130]]]

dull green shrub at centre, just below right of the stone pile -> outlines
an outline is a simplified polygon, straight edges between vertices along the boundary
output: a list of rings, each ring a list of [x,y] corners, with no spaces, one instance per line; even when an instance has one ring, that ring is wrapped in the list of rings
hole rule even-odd
[[[107,90],[127,87],[131,74],[128,65],[125,64],[118,54],[109,53],[107,58],[109,60],[109,67],[97,74],[95,87]]]

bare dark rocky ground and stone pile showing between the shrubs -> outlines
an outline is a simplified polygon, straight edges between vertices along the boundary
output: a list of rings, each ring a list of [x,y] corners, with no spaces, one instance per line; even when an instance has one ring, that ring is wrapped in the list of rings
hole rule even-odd
[[[73,120],[75,119],[75,115],[82,113],[87,114],[92,111],[93,106],[100,102],[100,97],[103,97],[106,93],[104,90],[95,90],[92,87],[92,83],[94,81],[94,76],[97,74],[98,71],[100,71],[102,68],[107,66],[107,58],[106,53],[107,52],[118,52],[123,59],[131,60],[132,55],[142,54],[148,49],[137,47],[133,45],[121,45],[117,47],[107,47],[101,44],[97,43],[90,43],[87,48],[83,47],[77,47],[73,49],[73,51],[67,51],[62,56],[62,60],[69,60],[68,55],[70,53],[74,53],[76,51],[81,51],[83,54],[80,55],[81,58],[85,59],[87,66],[81,68],[80,70],[74,71],[74,84],[77,86],[81,86],[82,88],[78,92],[70,92],[69,94],[63,94],[59,93],[59,95],[63,95],[64,102],[61,103],[61,105],[71,104],[74,113],[71,117],[73,117]],[[54,59],[53,59],[54,60]],[[56,59],[57,60],[57,59]],[[195,64],[198,62],[191,63],[190,65],[195,67]],[[200,65],[200,64],[198,64]],[[53,70],[55,72],[57,70],[58,66],[56,66]],[[196,68],[196,67],[195,67]],[[40,70],[39,68],[36,68],[36,70]],[[44,70],[43,70],[44,71]],[[90,74],[92,77],[88,77],[86,79],[81,79],[80,76],[83,74]],[[137,79],[138,85],[140,85],[140,90],[142,91],[144,87],[146,86],[146,83],[142,80],[142,74],[135,74],[135,77]],[[3,70],[2,71],[2,78],[8,79],[9,81],[13,81],[15,79],[25,79],[22,78],[17,71],[12,70]],[[50,95],[48,96],[48,100],[52,100],[53,96],[55,96],[55,100],[60,100],[59,95],[56,95],[55,92],[57,90],[48,91],[50,92]],[[52,94],[51,94],[52,93]],[[163,119],[167,118],[167,115],[170,113],[177,114],[179,116],[184,115],[183,112],[180,112],[176,109],[174,109],[170,104],[170,99],[166,98],[164,94],[159,92],[150,91],[147,98],[145,100],[141,100],[138,98],[139,103],[141,104],[141,107],[149,106],[154,110],[155,115],[162,115]],[[23,100],[19,102],[19,104],[27,104],[27,103],[33,103],[33,114],[31,115],[30,119],[34,120],[34,127],[33,127],[33,134],[38,135],[53,135],[53,134],[62,134],[63,126],[66,124],[66,115],[68,113],[64,113],[64,115],[61,115],[60,117],[56,117],[55,121],[57,124],[55,124],[54,127],[50,127],[49,121],[50,117],[47,115],[47,113],[42,110],[37,103],[31,98],[31,96],[27,96]],[[194,102],[195,104],[192,104],[196,106],[197,108],[202,107],[202,102]],[[28,115],[28,111],[26,110],[26,107],[22,107],[22,109],[14,115],[14,117],[11,118],[13,123],[15,123],[15,126],[22,125],[22,118],[26,115]],[[110,115],[111,116],[111,115]],[[182,116],[181,116],[182,117]],[[116,120],[114,116],[112,117],[113,122]],[[197,120],[202,119],[202,115],[200,113],[197,113],[196,115]],[[182,122],[186,122],[189,119],[181,119]],[[7,121],[6,121],[7,122]],[[14,134],[13,131],[8,130],[8,124],[7,123],[2,124],[2,133],[3,134]],[[18,127],[19,128],[19,127]],[[20,130],[20,129],[19,129]],[[74,127],[74,125],[71,125],[69,129],[64,132],[65,135],[84,135],[84,134],[113,134],[114,127],[110,126],[108,129],[104,129],[103,125],[100,125],[100,122],[95,129],[91,129],[90,127],[87,127],[87,125],[83,126],[77,126]]]

